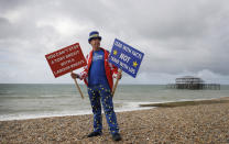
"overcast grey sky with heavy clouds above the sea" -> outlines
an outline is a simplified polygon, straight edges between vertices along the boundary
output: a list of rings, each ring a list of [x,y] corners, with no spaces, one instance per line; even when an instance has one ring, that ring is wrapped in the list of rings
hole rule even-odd
[[[73,84],[54,78],[44,55],[79,42],[90,49],[119,38],[145,54],[137,78],[122,84],[167,84],[197,76],[229,84],[228,0],[0,0],[0,82]],[[76,73],[80,71],[76,70]]]

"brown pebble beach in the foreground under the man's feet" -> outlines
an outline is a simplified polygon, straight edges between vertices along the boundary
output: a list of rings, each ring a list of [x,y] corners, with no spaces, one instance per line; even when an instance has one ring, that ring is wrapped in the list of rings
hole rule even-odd
[[[112,141],[105,115],[102,135],[88,139],[92,114],[86,114],[0,121],[0,143],[229,143],[229,98],[117,112],[117,119],[122,135],[120,142]]]

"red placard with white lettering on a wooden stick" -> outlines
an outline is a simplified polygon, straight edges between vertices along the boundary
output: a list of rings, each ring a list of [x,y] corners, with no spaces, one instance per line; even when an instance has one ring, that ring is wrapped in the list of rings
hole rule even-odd
[[[55,78],[87,65],[79,43],[45,55]]]

